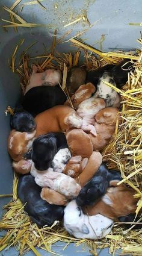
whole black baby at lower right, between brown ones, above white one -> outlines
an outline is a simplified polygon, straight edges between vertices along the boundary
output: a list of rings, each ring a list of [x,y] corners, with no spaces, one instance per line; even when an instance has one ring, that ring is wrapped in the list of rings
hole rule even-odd
[[[120,172],[117,170],[109,170],[108,167],[102,163],[97,170],[96,174],[82,187],[79,195],[76,198],[78,206],[94,204],[97,199],[101,198],[108,187],[110,187],[110,181],[122,180]]]

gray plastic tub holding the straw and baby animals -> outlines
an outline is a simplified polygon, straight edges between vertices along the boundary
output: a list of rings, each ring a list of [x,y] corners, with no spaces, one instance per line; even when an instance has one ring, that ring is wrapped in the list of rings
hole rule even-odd
[[[29,1],[29,0],[28,0]],[[61,37],[67,30],[72,32],[65,39],[75,36],[75,34],[88,28],[87,32],[82,34],[81,39],[85,40],[90,45],[101,49],[102,51],[114,51],[123,49],[129,51],[137,48],[136,40],[140,37],[140,27],[129,25],[130,22],[141,22],[142,1],[140,0],[44,0],[42,4],[47,8],[44,10],[40,5],[25,5],[22,12],[20,8],[22,4],[28,2],[22,0],[14,9],[23,19],[32,23],[44,23],[48,27],[39,28],[20,28],[18,33],[14,32],[13,28],[8,28],[8,32],[0,28],[0,159],[1,159],[1,176],[0,176],[0,194],[12,192],[13,170],[11,167],[10,157],[7,154],[7,136],[10,132],[10,115],[5,116],[5,109],[8,105],[14,107],[16,99],[20,95],[19,76],[12,73],[8,66],[8,59],[14,51],[14,48],[19,43],[20,39],[25,39],[24,44],[20,47],[19,55],[23,49],[31,43],[37,43],[29,49],[31,56],[42,54],[46,48],[51,47],[52,34],[57,29],[57,36]],[[0,1],[0,17],[8,19],[9,15],[2,9],[4,5],[11,7],[15,0]],[[67,23],[72,22],[77,18],[82,11],[87,11],[87,17],[91,24],[96,22],[89,29],[87,23],[78,22],[69,27],[64,27]],[[6,22],[1,22],[4,25]],[[101,36],[105,35],[105,40],[102,43],[97,43]],[[62,43],[58,45],[57,50],[60,52],[76,51],[70,43]],[[18,56],[18,55],[16,55]],[[10,201],[9,198],[0,198],[0,217],[2,217],[2,206]],[[2,236],[2,233],[1,233]],[[82,246],[77,248],[72,244],[67,246],[65,251],[58,246],[60,243],[53,246],[53,250],[61,255],[90,255],[89,248],[85,252],[81,252]],[[45,251],[40,251],[42,255],[51,255]],[[9,251],[2,251],[0,255],[16,256],[18,252],[11,248]],[[26,254],[34,255],[32,252]],[[103,249],[100,255],[108,255],[108,249]]]

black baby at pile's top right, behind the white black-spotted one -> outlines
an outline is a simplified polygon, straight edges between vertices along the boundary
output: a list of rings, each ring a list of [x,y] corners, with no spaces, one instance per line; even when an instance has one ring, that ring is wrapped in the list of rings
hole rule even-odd
[[[100,67],[100,69],[93,70],[87,73],[87,83],[92,83],[96,86],[99,82],[99,78],[102,77],[104,72],[110,73],[110,76],[113,77],[116,82],[116,86],[121,89],[122,86],[126,84],[128,81],[128,72],[134,70],[131,62],[128,62],[129,59],[123,60],[121,63],[117,65],[108,64],[104,67]],[[128,62],[128,63],[127,63]],[[127,63],[127,64],[125,64]],[[122,67],[125,64],[124,67]]]

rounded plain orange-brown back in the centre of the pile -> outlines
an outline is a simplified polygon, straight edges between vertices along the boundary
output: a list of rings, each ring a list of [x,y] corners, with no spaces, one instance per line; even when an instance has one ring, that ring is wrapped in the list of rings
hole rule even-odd
[[[81,155],[89,158],[93,152],[93,145],[88,134],[81,129],[73,129],[66,133],[67,144],[73,156]]]

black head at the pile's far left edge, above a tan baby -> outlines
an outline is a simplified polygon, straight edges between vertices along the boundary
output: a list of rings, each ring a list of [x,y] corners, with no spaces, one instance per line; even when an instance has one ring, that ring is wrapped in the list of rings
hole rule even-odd
[[[30,113],[22,111],[16,112],[14,116],[11,116],[10,126],[16,131],[31,132],[36,129],[36,122]]]

